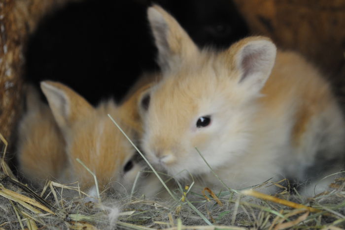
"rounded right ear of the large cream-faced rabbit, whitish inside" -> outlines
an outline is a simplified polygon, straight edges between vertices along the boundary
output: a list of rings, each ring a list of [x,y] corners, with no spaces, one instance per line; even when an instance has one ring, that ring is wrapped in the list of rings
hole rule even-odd
[[[266,37],[249,37],[234,44],[235,68],[239,84],[253,93],[259,92],[269,78],[276,59],[276,46]]]

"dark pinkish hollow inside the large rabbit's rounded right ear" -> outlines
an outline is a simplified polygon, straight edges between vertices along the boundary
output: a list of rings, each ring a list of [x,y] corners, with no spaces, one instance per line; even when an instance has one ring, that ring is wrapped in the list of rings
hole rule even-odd
[[[265,49],[257,49],[252,46],[247,46],[242,50],[241,68],[243,75],[239,83],[241,83],[248,75],[260,71],[260,64],[264,64],[266,60],[263,59]]]

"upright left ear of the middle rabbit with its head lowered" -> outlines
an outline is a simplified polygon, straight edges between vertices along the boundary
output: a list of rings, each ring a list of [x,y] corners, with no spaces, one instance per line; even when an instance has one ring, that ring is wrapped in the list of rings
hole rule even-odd
[[[93,107],[82,96],[61,83],[44,81],[41,82],[41,89],[63,132],[93,110]]]

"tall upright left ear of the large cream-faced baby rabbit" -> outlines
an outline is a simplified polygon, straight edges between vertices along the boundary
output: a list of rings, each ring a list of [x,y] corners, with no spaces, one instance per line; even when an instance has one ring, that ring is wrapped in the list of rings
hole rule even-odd
[[[147,15],[158,48],[158,64],[163,71],[198,55],[198,47],[187,32],[162,7],[149,7]]]

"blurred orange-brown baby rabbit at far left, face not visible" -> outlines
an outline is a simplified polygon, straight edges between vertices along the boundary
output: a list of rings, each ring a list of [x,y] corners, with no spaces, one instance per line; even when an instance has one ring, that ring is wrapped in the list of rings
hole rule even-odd
[[[26,92],[27,111],[19,123],[19,171],[35,185],[57,179],[67,167],[65,140],[47,105],[32,86]]]

